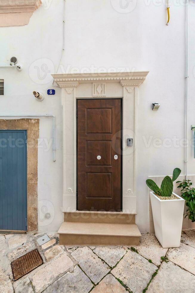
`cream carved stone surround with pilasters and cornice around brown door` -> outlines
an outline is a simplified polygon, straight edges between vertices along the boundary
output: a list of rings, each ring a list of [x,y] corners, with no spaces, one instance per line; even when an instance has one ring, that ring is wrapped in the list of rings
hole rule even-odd
[[[53,74],[63,105],[63,211],[76,210],[76,99],[123,99],[123,212],[136,213],[138,87],[148,72]],[[133,138],[132,147],[126,138]]]

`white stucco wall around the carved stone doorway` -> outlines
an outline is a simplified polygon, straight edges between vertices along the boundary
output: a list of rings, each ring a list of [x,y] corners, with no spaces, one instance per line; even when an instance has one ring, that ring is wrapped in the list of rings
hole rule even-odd
[[[64,1],[42,2],[28,25],[0,28],[1,65],[8,65],[12,56],[23,65],[21,72],[13,68],[0,69],[0,79],[4,79],[0,115],[56,116],[56,162],[52,161],[52,146],[46,151],[46,144],[41,143],[44,147],[38,149],[38,200],[39,231],[57,231],[63,220],[61,89],[56,87],[54,96],[48,96],[47,89],[54,88],[50,73],[56,73],[61,58]],[[183,175],[185,172],[185,149],[177,147],[185,137],[185,1],[170,1],[168,26],[165,26],[165,1],[133,0],[129,5],[135,8],[129,6],[132,10],[129,13],[125,13],[127,9],[120,9],[119,2],[66,0],[65,50],[58,72],[150,71],[139,88],[137,113],[136,222],[140,230],[146,232],[146,178],[171,175],[174,167],[181,168]],[[189,5],[189,140],[193,137],[191,125],[195,124],[194,2],[191,0]],[[43,63],[48,66],[46,73],[50,71],[45,78]],[[33,90],[44,93],[45,99],[37,102]],[[157,112],[151,111],[153,102],[160,103]],[[155,138],[172,140],[174,136],[179,138],[176,147],[173,141],[171,144],[164,141],[160,146],[155,141]],[[52,119],[40,118],[40,138],[49,141],[51,137]],[[146,146],[149,139],[151,142]],[[189,146],[188,174],[195,174],[194,169],[193,149]],[[49,224],[47,220],[42,221],[44,206],[54,215]]]

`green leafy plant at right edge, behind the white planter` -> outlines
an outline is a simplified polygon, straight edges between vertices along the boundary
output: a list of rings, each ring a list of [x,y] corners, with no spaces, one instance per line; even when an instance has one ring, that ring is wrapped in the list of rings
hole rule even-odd
[[[195,188],[191,187],[192,182],[190,181],[191,180],[183,180],[177,181],[176,183],[179,183],[177,188],[182,188],[181,197],[185,199],[185,204],[188,207],[185,218],[188,216],[192,222],[195,222]]]

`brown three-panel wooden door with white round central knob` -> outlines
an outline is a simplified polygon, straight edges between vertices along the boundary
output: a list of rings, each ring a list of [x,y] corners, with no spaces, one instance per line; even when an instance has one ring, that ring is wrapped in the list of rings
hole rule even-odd
[[[77,111],[78,210],[120,211],[121,100],[78,100]]]

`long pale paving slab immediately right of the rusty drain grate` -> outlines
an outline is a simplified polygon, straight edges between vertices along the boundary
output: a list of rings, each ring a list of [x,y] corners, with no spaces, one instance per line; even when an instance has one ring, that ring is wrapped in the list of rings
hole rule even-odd
[[[56,278],[61,277],[71,266],[72,260],[66,254],[62,254],[57,259],[50,262],[45,267],[38,270],[32,277],[33,287],[35,292],[42,292],[51,283],[55,282]]]

